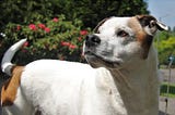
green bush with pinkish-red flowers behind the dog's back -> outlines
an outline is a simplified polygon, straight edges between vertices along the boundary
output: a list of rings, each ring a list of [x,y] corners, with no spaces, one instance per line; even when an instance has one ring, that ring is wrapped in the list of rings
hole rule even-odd
[[[81,26],[80,20],[68,22],[65,15],[28,25],[9,24],[1,44],[10,47],[20,39],[27,38],[27,42],[15,58],[16,63],[28,63],[38,59],[84,62],[82,44],[90,28],[81,29]]]

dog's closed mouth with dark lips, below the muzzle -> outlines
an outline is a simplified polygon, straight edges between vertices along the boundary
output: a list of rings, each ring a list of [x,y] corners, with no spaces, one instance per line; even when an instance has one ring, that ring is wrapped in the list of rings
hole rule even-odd
[[[116,67],[116,66],[120,65],[120,63],[117,61],[109,60],[107,58],[104,58],[104,56],[96,54],[94,52],[91,52],[91,51],[85,51],[84,55],[90,64],[93,63],[93,62],[91,62],[91,59],[95,59],[95,61],[100,62],[101,64],[103,64],[107,67]]]

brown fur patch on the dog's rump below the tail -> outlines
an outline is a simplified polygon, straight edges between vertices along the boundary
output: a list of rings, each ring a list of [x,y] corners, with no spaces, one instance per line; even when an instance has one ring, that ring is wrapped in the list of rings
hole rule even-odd
[[[21,74],[24,66],[14,66],[12,68],[12,77],[4,82],[1,89],[1,104],[2,106],[12,105],[18,93],[18,88],[21,81]]]

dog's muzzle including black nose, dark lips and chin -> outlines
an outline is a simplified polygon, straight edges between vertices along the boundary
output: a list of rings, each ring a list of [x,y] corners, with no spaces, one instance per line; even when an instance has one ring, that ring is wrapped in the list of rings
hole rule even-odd
[[[101,38],[96,35],[88,35],[85,37],[83,54],[86,61],[95,68],[102,66],[114,68],[118,66],[119,63],[109,56],[110,53],[101,49],[102,42]]]

